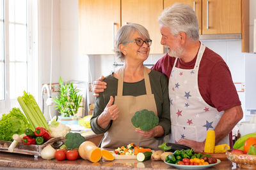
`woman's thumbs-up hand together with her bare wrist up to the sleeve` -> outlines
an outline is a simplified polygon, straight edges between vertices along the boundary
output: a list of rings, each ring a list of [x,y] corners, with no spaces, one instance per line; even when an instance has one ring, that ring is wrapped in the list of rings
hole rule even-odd
[[[111,120],[116,120],[119,117],[119,108],[116,106],[116,104],[113,104],[114,97],[110,96],[109,102],[102,112],[102,114],[99,116],[97,123],[99,126],[103,129],[108,127],[108,124]],[[113,105],[112,105],[113,104]]]

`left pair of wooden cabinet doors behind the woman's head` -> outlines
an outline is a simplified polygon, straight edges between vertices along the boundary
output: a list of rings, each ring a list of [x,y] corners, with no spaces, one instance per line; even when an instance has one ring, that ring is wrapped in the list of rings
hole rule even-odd
[[[112,54],[115,33],[126,23],[145,26],[152,39],[150,53],[163,53],[157,21],[161,11],[159,0],[79,0],[80,53]]]

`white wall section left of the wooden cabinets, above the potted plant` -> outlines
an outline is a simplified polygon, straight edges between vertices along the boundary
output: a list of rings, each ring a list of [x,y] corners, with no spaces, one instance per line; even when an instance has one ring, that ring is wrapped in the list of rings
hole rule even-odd
[[[88,56],[79,55],[78,1],[61,0],[60,3],[61,72],[64,81],[88,81]]]

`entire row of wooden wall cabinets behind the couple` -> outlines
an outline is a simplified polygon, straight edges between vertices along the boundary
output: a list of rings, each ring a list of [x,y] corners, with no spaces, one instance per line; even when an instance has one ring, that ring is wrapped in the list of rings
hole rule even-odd
[[[113,54],[116,31],[133,22],[148,29],[150,53],[163,53],[157,18],[177,2],[195,10],[200,39],[240,38],[249,52],[249,0],[79,0],[79,52]]]

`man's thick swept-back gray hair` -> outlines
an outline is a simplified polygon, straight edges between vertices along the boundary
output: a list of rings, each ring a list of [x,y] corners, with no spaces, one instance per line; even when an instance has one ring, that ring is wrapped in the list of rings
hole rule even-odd
[[[199,26],[195,11],[188,5],[175,3],[172,7],[167,8],[158,18],[159,24],[169,27],[173,36],[179,32],[185,32],[189,39],[199,40]]]

